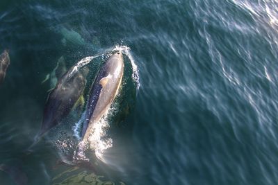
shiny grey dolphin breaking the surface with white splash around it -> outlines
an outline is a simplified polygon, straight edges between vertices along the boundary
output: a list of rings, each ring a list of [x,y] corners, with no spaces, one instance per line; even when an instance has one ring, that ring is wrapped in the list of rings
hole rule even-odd
[[[113,103],[122,82],[123,73],[124,60],[120,52],[112,55],[100,69],[90,90],[85,122],[81,133],[83,141],[88,139],[93,125],[104,116],[111,103]]]

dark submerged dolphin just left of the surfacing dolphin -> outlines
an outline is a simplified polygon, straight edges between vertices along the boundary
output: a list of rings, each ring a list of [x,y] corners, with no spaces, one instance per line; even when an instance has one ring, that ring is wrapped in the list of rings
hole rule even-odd
[[[76,71],[71,76],[73,68],[58,80],[56,87],[49,94],[47,104],[44,107],[42,127],[38,136],[58,125],[70,113],[76,101],[81,97],[85,88],[85,76],[87,76],[88,69],[83,69],[85,74],[81,73],[81,71]]]

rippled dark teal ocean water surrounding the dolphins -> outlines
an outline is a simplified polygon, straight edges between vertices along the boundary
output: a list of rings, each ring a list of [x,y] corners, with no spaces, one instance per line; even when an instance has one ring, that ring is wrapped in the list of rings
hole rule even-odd
[[[4,49],[1,184],[278,183],[278,1],[1,0]],[[94,79],[119,49],[125,80],[90,165],[60,162],[73,151],[74,114],[26,152],[59,58],[69,69],[101,55]]]

